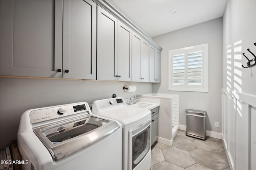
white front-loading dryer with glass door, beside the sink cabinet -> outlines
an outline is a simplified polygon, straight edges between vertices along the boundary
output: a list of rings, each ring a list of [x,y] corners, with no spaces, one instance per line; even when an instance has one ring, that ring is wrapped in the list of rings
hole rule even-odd
[[[128,107],[122,97],[94,101],[92,113],[122,124],[122,170],[150,170],[151,112]]]

